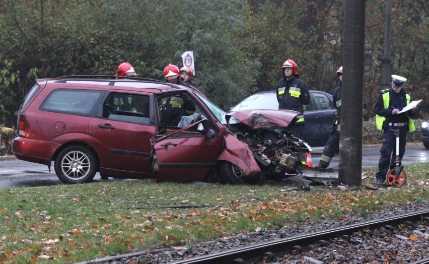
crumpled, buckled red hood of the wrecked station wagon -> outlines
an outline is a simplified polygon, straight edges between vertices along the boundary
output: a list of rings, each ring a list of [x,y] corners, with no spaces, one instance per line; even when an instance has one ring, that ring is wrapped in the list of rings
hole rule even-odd
[[[229,124],[232,116],[248,125],[251,129],[257,129],[288,126],[298,120],[297,115],[299,114],[299,112],[292,110],[249,109],[229,112],[226,114],[226,119]]]

